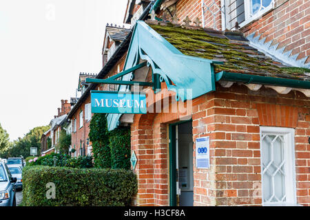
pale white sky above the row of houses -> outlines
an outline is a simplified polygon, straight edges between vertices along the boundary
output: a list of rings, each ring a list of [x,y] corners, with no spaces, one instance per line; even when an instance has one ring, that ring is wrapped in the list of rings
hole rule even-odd
[[[0,0],[0,124],[10,140],[48,125],[79,73],[98,74],[106,23],[127,0]]]

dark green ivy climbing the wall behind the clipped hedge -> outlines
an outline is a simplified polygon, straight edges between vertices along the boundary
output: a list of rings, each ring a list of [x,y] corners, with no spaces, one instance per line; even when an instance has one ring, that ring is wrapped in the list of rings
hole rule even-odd
[[[99,168],[130,169],[130,129],[107,129],[106,115],[94,113],[90,122],[90,141],[94,165]]]

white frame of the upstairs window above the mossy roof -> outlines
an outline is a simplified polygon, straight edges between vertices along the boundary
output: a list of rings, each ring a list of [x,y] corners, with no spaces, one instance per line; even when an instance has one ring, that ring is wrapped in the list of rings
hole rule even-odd
[[[253,15],[251,14],[251,5],[252,5],[251,0],[244,0],[244,4],[245,4],[245,21],[238,24],[240,28],[244,27],[245,25],[247,25],[248,23],[251,23],[252,21],[256,19],[259,19],[260,17],[262,17],[262,15],[272,10],[275,6],[275,0],[271,0],[271,3],[269,6],[267,6],[267,8],[260,10],[259,12]],[[225,14],[225,19],[227,19],[227,14]],[[228,26],[229,26],[228,23],[226,23],[225,27],[228,27]],[[231,30],[235,30],[235,28],[232,28]]]

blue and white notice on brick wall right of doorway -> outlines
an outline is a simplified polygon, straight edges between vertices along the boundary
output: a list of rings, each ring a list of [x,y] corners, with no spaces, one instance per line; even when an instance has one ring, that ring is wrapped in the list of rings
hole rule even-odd
[[[210,168],[210,137],[196,138],[196,167]]]

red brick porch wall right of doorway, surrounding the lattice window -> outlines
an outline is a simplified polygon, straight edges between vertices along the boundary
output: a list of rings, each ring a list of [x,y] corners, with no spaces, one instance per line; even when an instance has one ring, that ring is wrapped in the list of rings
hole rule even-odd
[[[195,205],[260,205],[260,126],[285,126],[296,129],[298,203],[309,206],[309,98],[298,91],[280,95],[235,84],[228,89],[218,86],[199,102],[193,115],[194,139],[210,136],[211,169],[194,170],[195,186],[200,186]]]

